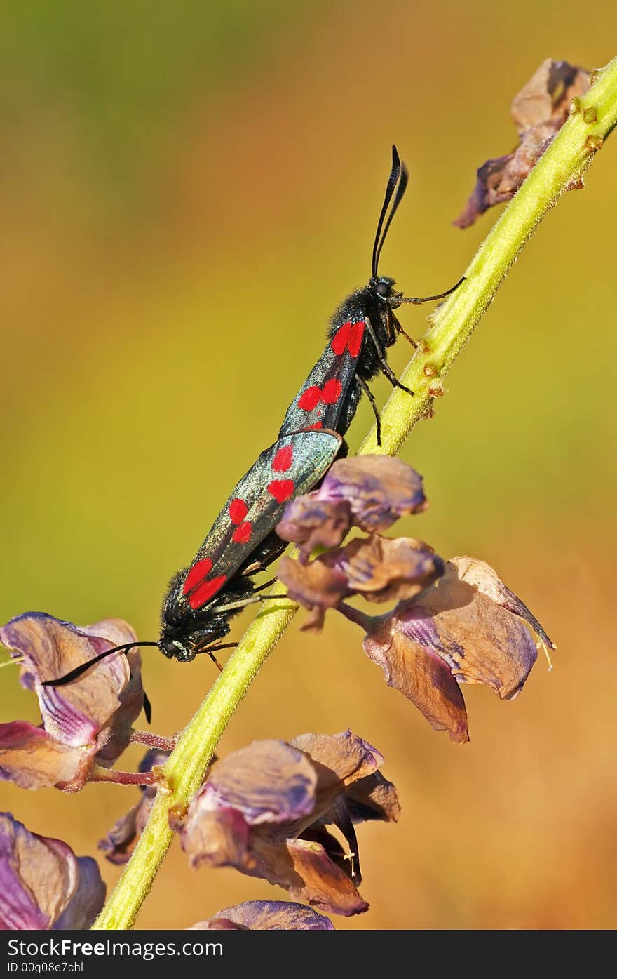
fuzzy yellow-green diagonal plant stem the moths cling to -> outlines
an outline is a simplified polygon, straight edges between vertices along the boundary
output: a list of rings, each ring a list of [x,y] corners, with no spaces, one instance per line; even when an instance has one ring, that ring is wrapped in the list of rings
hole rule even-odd
[[[374,430],[361,452],[393,455],[411,429],[432,414],[434,398],[443,394],[442,378],[492,302],[508,268],[559,196],[568,187],[580,183],[596,150],[615,124],[617,59],[597,72],[593,87],[577,102],[576,111],[472,259],[463,285],[430,317],[428,332],[402,377],[416,396],[401,391],[393,393],[381,415],[381,446],[376,444]],[[244,634],[161,769],[163,787],[157,793],[152,815],[94,928],[119,929],[133,925],[171,843],[169,812],[178,815],[186,812],[221,734],[296,608],[286,601],[269,603]]]

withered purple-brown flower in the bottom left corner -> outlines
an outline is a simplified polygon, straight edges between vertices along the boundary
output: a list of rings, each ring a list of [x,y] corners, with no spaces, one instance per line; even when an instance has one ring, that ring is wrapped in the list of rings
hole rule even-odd
[[[89,928],[105,902],[96,861],[0,814],[0,929]]]

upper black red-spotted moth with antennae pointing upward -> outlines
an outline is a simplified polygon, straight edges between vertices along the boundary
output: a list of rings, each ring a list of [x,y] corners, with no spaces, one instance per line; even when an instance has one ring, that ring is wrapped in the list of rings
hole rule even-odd
[[[344,435],[364,393],[369,396],[375,412],[377,444],[380,444],[379,413],[369,381],[382,373],[393,387],[401,388],[409,395],[414,394],[397,379],[385,356],[386,349],[395,343],[399,334],[417,346],[405,333],[394,315],[394,309],[402,303],[419,304],[444,299],[459,288],[463,279],[445,293],[420,299],[404,296],[394,288],[394,279],[378,274],[383,242],[408,181],[407,167],[401,163],[393,146],[392,166],[375,233],[371,278],[366,286],[340,303],[334,312],[328,346],[287,408],[280,436],[298,428],[327,428]],[[390,203],[392,206],[388,214]]]

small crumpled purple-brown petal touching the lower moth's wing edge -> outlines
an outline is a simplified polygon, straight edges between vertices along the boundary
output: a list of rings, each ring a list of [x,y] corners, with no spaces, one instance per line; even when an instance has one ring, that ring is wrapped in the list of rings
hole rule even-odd
[[[320,500],[312,492],[287,504],[277,534],[301,544],[298,560],[305,564],[317,547],[337,547],[350,527],[351,508],[346,499]]]

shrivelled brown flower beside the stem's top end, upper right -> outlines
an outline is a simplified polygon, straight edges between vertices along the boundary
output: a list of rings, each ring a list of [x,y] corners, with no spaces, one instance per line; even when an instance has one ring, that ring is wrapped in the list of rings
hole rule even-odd
[[[514,196],[568,117],[572,99],[584,95],[589,87],[586,70],[551,58],[542,63],[512,101],[519,146],[480,166],[471,196],[453,221],[457,227],[469,227],[485,210]],[[576,186],[581,187],[582,182]]]

